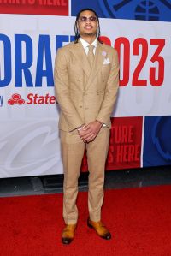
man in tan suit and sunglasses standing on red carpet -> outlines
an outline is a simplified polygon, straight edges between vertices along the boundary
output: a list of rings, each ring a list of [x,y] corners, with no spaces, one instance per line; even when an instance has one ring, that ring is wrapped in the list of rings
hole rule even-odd
[[[85,148],[90,173],[87,224],[100,237],[111,238],[101,221],[101,207],[119,65],[115,49],[102,44],[98,40],[99,33],[96,12],[82,9],[75,21],[75,42],[65,45],[56,54],[55,86],[61,108],[59,129],[64,167],[64,244],[74,239],[78,178]]]

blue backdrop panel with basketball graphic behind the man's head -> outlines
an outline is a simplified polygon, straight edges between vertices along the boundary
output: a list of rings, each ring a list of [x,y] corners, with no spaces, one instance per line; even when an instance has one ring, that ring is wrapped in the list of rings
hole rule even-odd
[[[72,0],[72,15],[80,9],[91,8],[101,18],[146,21],[171,21],[170,0]]]

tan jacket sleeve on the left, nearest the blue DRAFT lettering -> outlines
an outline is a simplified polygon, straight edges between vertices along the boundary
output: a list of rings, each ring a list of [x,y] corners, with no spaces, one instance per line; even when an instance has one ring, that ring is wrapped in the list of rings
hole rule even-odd
[[[72,131],[80,127],[84,122],[81,120],[69,95],[68,64],[63,49],[58,49],[56,54],[54,81],[57,102],[60,105],[63,116],[68,122],[68,130]]]

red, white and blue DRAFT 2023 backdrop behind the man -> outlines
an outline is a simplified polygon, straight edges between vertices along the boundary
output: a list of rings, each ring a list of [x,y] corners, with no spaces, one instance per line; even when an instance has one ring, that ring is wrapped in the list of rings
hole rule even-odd
[[[171,1],[0,0],[0,177],[62,174],[54,61],[87,7],[121,65],[106,170],[171,164]]]

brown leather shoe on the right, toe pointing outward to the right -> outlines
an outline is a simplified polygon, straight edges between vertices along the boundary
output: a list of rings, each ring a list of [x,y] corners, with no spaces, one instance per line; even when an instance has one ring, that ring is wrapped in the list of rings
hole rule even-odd
[[[106,229],[106,227],[101,221],[93,222],[91,221],[90,218],[88,218],[87,225],[89,228],[95,229],[95,231],[97,232],[97,235],[99,235],[103,239],[109,240],[111,238],[111,234],[109,233],[109,230]]]

